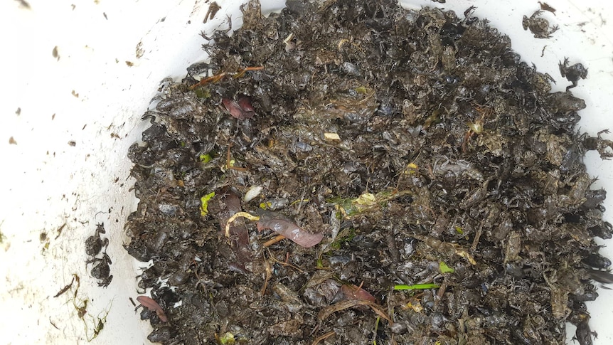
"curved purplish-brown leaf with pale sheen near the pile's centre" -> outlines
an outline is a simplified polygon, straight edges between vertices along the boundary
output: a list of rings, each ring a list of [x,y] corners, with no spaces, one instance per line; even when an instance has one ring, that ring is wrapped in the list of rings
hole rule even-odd
[[[273,230],[279,235],[284,235],[294,241],[297,245],[302,245],[304,248],[311,248],[320,243],[324,238],[323,233],[309,233],[280,213],[260,209],[257,210],[257,214],[260,215],[260,221],[257,222],[257,230]]]

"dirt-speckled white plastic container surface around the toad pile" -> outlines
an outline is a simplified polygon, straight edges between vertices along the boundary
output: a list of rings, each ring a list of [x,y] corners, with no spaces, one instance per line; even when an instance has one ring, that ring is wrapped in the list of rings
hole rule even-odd
[[[122,248],[124,221],[137,202],[127,148],[146,127],[140,117],[159,82],[206,57],[202,30],[225,28],[225,14],[240,25],[242,1],[218,0],[222,9],[206,24],[203,0],[26,1],[0,3],[0,343],[86,343],[108,311],[93,343],[147,344],[149,325],[129,302],[142,265]],[[476,6],[474,14],[507,33],[523,60],[558,81],[555,91],[568,84],[558,60],[582,62],[588,78],[572,89],[587,103],[581,129],[595,135],[613,127],[613,9],[606,1],[548,1],[558,11],[543,16],[560,26],[549,39],[521,26],[537,1],[407,2],[459,15]],[[284,1],[262,3],[270,11]],[[613,221],[612,161],[590,153],[587,163],[597,186],[609,189],[604,218]],[[84,240],[102,222],[114,275],[106,289],[85,269]],[[613,257],[610,248],[602,252]],[[53,297],[73,274],[81,278],[76,303],[88,300],[84,319],[70,292]],[[594,344],[613,344],[613,291],[599,294],[589,305]]]

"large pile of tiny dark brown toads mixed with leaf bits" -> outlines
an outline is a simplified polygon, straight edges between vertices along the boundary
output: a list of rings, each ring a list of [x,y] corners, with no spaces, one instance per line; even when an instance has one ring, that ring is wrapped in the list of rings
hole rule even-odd
[[[613,231],[582,159],[611,142],[583,100],[470,9],[242,11],[129,149],[151,341],[592,344]]]

